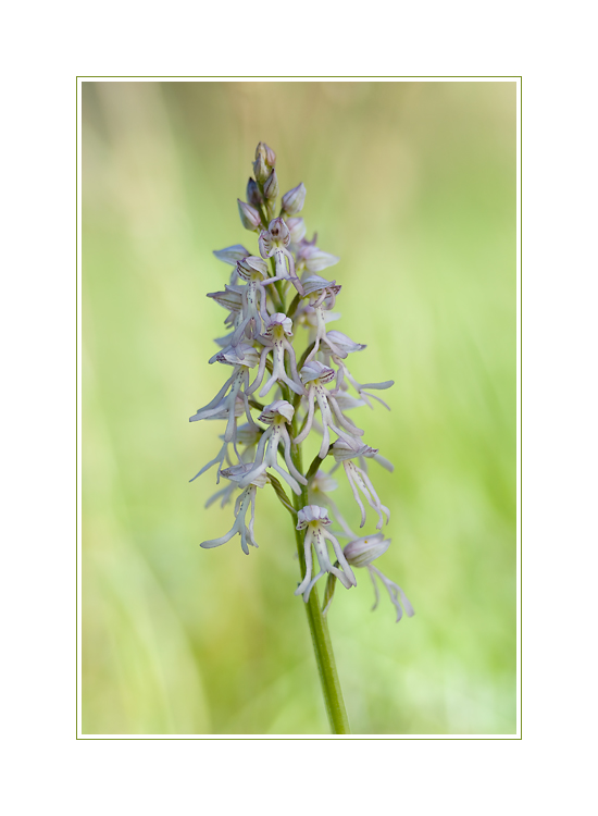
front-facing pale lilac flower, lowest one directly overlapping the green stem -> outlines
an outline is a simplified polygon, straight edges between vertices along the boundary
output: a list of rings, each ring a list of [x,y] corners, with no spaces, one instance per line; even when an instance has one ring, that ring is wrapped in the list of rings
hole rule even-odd
[[[340,544],[335,536],[326,530],[332,523],[328,518],[327,510],[324,507],[317,505],[307,505],[297,515],[297,530],[306,530],[306,539],[303,542],[306,553],[306,577],[295,590],[296,595],[303,595],[306,604],[309,601],[310,592],[312,591],[315,582],[322,578],[326,572],[334,574],[340,583],[346,588],[357,586],[356,577],[353,571],[347,564],[347,559],[342,553]],[[338,567],[333,566],[328,555],[328,547],[326,542],[329,541],[333,545],[334,554],[337,558],[338,564],[342,567],[342,570]],[[312,554],[311,546],[315,549],[317,564],[320,565],[320,571],[312,578]]]

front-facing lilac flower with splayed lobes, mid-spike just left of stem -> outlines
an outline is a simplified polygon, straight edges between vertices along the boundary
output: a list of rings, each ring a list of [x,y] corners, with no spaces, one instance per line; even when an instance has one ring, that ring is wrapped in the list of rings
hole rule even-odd
[[[297,470],[290,458],[290,436],[286,428],[286,423],[292,420],[295,408],[287,403],[286,399],[276,399],[274,403],[267,405],[258,417],[260,422],[266,422],[270,428],[264,431],[260,438],[258,449],[256,452],[256,459],[251,466],[251,469],[247,471],[247,474],[239,482],[239,486],[244,487],[249,482],[257,479],[263,473],[266,468],[273,468],[279,473],[283,479],[287,482],[290,489],[298,496],[301,495],[301,484],[307,484],[308,480]],[[278,446],[283,445],[285,462],[288,468],[288,473],[278,465]]]

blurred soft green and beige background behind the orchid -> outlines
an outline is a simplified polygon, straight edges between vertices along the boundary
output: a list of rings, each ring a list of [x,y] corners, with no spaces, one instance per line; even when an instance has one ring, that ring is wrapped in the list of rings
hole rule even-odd
[[[329,627],[358,734],[515,731],[515,84],[83,83],[83,731],[327,733],[290,517],[259,491],[258,551],[203,509],[222,423],[188,418],[228,371],[212,249],[257,240],[236,198],[257,143],[308,235],[340,256],[333,327],[394,379],[360,408],[395,463],[378,566]],[[358,524],[345,478],[334,498]],[[369,517],[373,530],[375,516]]]

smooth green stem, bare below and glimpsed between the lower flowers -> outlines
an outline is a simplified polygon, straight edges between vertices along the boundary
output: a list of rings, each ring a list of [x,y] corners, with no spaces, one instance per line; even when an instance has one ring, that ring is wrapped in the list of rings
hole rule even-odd
[[[292,435],[295,436],[295,433]],[[291,459],[297,470],[301,473],[302,457],[300,445],[291,446]],[[299,511],[302,507],[306,507],[306,505],[309,504],[307,486],[301,487],[300,496],[292,494],[292,498],[295,509],[297,511]],[[302,530],[295,530],[297,553],[299,555],[299,564],[301,565],[301,578],[303,578],[303,576],[306,574],[306,554],[303,548],[303,537],[304,533]],[[315,653],[315,663],[317,664],[317,670],[320,672],[320,681],[322,683],[322,693],[324,695],[326,713],[328,715],[328,721],[331,724],[331,731],[333,733],[351,733],[349,730],[349,720],[347,718],[345,701],[342,700],[342,692],[340,690],[340,682],[338,680],[338,672],[336,670],[336,663],[334,659],[328,625],[326,622],[326,618],[322,615],[322,610],[320,608],[320,598],[317,596],[317,590],[315,586],[312,589],[310,593],[310,599],[306,604],[306,611],[310,626],[313,651]]]

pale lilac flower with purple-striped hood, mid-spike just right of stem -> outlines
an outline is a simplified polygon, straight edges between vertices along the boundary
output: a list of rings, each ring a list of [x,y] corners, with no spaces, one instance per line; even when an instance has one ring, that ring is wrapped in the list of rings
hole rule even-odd
[[[334,379],[334,370],[326,368],[326,366],[317,360],[312,360],[301,369],[301,379],[303,383],[308,385],[308,416],[303,430],[294,440],[295,443],[300,444],[307,438],[313,424],[315,401],[317,401],[322,415],[322,428],[324,434],[320,446],[320,458],[323,459],[328,450],[331,444],[331,430],[341,440],[345,440],[349,446],[353,446],[354,448],[361,446],[362,443],[357,437],[362,436],[363,431],[360,428],[356,428],[356,425],[342,416],[342,411],[338,407],[336,399],[331,392],[324,387],[325,383],[328,383]],[[338,424],[335,423],[335,418]],[[345,430],[341,430],[338,425],[341,425]]]

